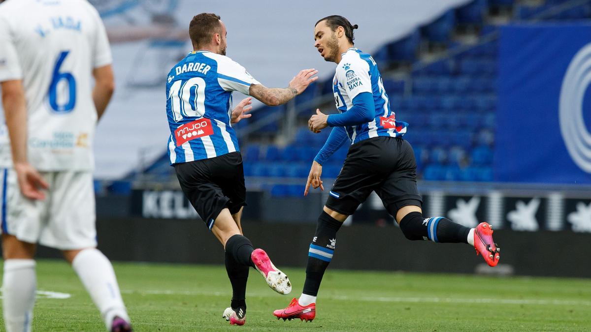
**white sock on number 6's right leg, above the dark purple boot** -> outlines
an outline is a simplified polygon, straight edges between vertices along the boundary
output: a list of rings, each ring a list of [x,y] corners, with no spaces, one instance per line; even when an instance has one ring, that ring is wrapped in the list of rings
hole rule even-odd
[[[108,330],[111,330],[115,316],[131,323],[113,266],[102,252],[94,248],[82,250],[72,261],[72,267],[99,308]]]

